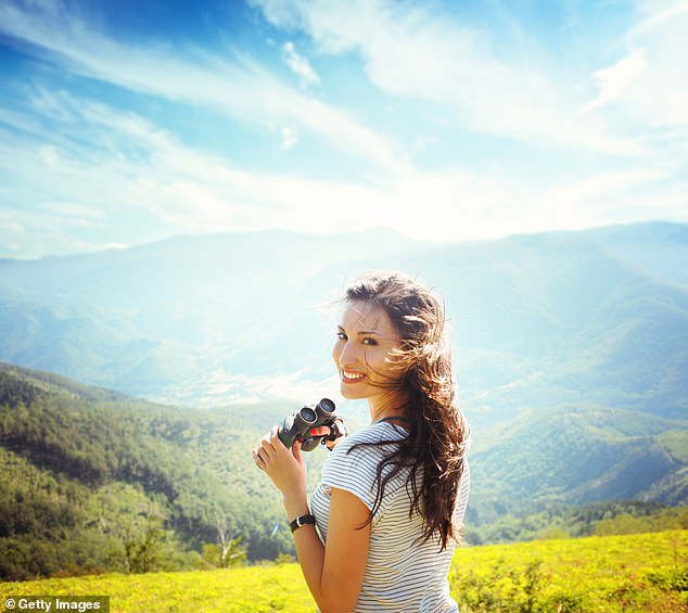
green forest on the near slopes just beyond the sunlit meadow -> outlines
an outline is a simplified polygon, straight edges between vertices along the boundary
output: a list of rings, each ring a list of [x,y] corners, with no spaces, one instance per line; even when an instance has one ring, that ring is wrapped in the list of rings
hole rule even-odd
[[[289,410],[179,409],[2,366],[0,578],[293,559],[279,498],[250,454]],[[310,487],[323,459],[307,457]],[[686,507],[651,500],[480,515],[469,516],[466,545],[688,528]]]

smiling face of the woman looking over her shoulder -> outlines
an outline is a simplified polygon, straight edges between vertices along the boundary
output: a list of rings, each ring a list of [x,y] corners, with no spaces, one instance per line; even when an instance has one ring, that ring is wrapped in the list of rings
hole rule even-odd
[[[384,310],[369,302],[346,303],[337,328],[332,357],[342,396],[374,401],[396,393],[391,384],[403,369],[392,352],[399,346],[399,335]]]

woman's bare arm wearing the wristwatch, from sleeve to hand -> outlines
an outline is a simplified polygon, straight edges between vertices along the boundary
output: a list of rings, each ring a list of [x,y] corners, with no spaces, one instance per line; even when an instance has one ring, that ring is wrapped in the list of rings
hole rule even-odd
[[[273,429],[254,450],[254,460],[282,493],[289,521],[308,513],[306,468],[301,445],[284,447]],[[327,547],[315,526],[305,525],[294,532],[296,553],[304,578],[322,613],[351,612],[356,605],[366,570],[370,511],[353,494],[332,489]]]

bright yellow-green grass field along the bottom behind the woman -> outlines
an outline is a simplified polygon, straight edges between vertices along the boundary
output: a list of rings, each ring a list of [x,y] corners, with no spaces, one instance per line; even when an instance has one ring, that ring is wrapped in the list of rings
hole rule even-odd
[[[461,548],[449,578],[462,613],[688,612],[688,531]],[[113,613],[315,611],[296,564],[4,583],[2,611],[22,595],[110,596]]]

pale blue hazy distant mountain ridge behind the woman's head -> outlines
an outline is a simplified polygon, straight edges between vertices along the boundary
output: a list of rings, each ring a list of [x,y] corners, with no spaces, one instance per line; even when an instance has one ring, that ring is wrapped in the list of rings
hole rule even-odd
[[[433,246],[390,232],[187,237],[0,261],[0,359],[189,406],[335,395],[333,319],[358,270],[446,298],[476,424],[571,403],[688,409],[688,226]]]

